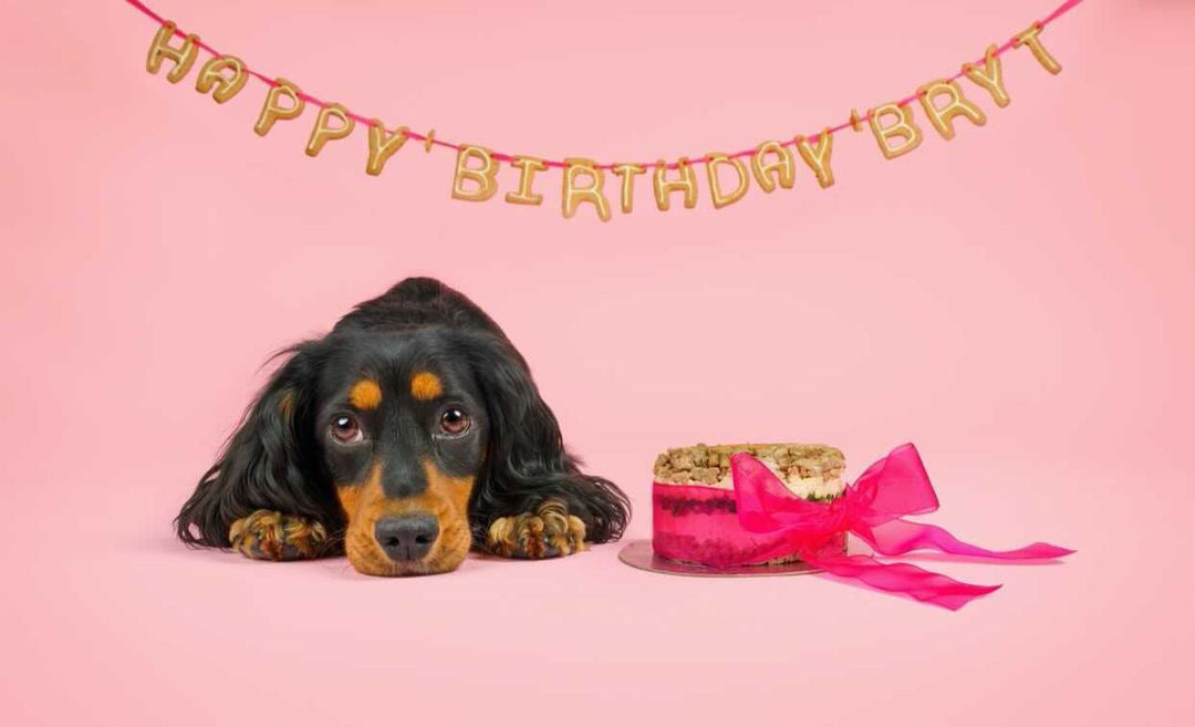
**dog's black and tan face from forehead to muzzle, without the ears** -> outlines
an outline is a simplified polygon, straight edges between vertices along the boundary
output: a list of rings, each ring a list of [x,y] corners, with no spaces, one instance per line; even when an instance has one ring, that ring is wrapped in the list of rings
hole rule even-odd
[[[424,329],[330,343],[300,426],[323,453],[349,560],[375,575],[452,570],[489,441],[466,341]]]

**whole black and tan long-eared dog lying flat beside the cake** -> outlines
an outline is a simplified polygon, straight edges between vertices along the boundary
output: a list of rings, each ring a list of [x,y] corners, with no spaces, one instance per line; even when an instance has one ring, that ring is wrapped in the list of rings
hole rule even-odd
[[[473,548],[549,558],[623,534],[626,495],[581,471],[523,356],[439,280],[403,280],[277,355],[174,521],[184,543],[413,575]]]

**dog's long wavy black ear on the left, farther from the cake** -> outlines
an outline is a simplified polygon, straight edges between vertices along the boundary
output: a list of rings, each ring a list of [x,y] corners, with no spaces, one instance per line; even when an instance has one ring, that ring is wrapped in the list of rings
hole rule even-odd
[[[282,352],[290,354],[245,411],[240,427],[174,520],[178,537],[190,545],[228,548],[228,527],[258,511],[301,515],[343,530],[343,515],[313,441],[318,341]]]

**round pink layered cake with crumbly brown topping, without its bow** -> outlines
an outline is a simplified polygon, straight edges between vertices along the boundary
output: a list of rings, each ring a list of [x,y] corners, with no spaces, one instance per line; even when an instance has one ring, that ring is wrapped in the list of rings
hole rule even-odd
[[[652,537],[656,555],[715,568],[799,560],[784,536],[743,530],[736,514],[730,456],[746,452],[767,466],[796,497],[828,502],[846,489],[842,452],[826,445],[694,445],[656,458]],[[845,548],[845,534],[834,546]]]

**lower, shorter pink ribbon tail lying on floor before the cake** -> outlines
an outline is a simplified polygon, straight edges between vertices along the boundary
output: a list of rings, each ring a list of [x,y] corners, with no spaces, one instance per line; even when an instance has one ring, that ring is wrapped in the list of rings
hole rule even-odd
[[[905,593],[951,611],[1000,587],[964,584],[911,563],[881,563],[866,555],[814,557],[809,563],[827,573],[853,578],[881,591]]]

